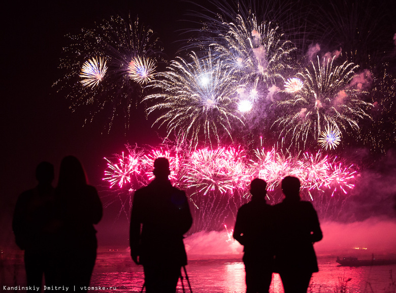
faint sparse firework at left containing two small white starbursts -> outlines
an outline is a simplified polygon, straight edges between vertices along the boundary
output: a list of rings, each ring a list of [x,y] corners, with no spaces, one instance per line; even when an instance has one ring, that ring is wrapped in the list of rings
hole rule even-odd
[[[109,131],[117,113],[123,113],[127,128],[142,84],[153,78],[160,58],[153,31],[130,15],[112,16],[68,38],[59,64],[64,76],[54,83],[57,91],[71,101],[73,111],[86,108],[90,121],[100,112],[107,115]]]

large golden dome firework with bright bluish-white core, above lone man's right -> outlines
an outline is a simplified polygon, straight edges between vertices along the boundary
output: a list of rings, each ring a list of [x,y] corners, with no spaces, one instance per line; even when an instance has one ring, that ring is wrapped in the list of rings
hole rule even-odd
[[[155,103],[147,109],[150,114],[161,110],[154,124],[166,124],[172,133],[191,142],[196,148],[200,141],[212,146],[223,135],[231,137],[232,122],[243,125],[237,110],[236,82],[222,61],[211,55],[200,59],[190,55],[192,63],[182,58],[171,62],[167,72],[160,72],[147,88],[144,101]]]

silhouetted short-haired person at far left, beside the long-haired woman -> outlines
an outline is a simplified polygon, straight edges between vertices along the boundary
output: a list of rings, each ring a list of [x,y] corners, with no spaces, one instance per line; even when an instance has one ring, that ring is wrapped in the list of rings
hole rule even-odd
[[[27,286],[40,287],[43,275],[46,285],[54,282],[51,262],[54,188],[54,166],[43,161],[36,168],[39,184],[20,194],[12,222],[15,241],[25,250]],[[37,290],[36,290],[37,291]]]

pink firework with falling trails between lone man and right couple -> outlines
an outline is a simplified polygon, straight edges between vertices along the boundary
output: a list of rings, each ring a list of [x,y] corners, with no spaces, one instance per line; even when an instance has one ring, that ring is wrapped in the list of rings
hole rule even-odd
[[[241,148],[200,149],[192,152],[185,173],[187,190],[200,219],[197,226],[219,229],[226,218],[235,220],[238,208],[247,202],[252,179]]]

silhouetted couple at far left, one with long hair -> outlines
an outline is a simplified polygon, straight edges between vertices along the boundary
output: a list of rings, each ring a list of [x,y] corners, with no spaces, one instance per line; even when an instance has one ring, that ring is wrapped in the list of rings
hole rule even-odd
[[[44,275],[47,287],[86,291],[96,258],[93,224],[102,218],[101,200],[74,156],[61,161],[56,188],[50,163],[38,165],[36,178],[37,187],[19,196],[13,218],[16,243],[25,250],[27,286],[42,288]]]

